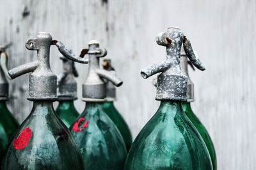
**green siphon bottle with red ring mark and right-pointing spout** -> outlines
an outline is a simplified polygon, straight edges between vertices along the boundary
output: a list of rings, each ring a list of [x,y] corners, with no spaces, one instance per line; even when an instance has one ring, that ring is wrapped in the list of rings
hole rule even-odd
[[[59,43],[56,45],[61,48]],[[82,100],[86,102],[86,106],[70,131],[81,150],[84,169],[124,169],[127,150],[122,135],[103,109],[106,84],[102,78],[117,87],[122,85],[122,81],[116,77],[115,71],[99,68],[99,59],[107,51],[99,48],[99,43],[95,40],[88,45],[89,48],[84,49],[80,55],[89,55],[88,74],[82,87]]]

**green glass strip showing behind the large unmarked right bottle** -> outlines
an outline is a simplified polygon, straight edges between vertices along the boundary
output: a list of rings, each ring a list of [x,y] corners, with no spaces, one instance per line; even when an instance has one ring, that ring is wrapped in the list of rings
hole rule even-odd
[[[182,103],[182,108],[184,113],[187,115],[189,120],[195,125],[197,131],[201,134],[202,138],[204,139],[205,145],[209,151],[212,160],[212,167],[214,170],[217,169],[217,159],[216,153],[214,150],[214,145],[212,143],[211,137],[209,136],[207,130],[205,129],[204,125],[200,122],[200,120],[196,117],[196,115],[191,110],[191,106],[189,102]]]

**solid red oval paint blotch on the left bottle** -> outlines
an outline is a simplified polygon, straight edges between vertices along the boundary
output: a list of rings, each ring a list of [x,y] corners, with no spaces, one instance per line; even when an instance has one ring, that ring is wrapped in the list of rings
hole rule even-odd
[[[24,129],[20,133],[20,136],[13,141],[14,148],[16,148],[17,150],[24,149],[28,145],[29,139],[31,138],[31,136],[32,136],[31,129],[29,127],[26,127],[26,129]]]

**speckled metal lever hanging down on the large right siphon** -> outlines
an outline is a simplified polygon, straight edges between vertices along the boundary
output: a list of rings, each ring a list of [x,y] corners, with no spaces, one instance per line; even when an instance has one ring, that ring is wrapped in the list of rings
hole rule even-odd
[[[186,38],[186,36],[184,36],[183,46],[184,46],[184,51],[185,51],[186,55],[188,56],[189,60],[192,62],[192,64],[194,66],[196,66],[196,68],[204,71],[205,67],[203,66],[202,62],[200,62],[200,60],[198,58],[196,58],[196,55],[192,49],[191,43],[190,43],[189,39]]]

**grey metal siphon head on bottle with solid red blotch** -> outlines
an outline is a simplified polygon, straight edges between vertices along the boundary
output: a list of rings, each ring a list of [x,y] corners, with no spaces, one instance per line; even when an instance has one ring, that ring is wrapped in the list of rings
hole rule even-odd
[[[37,51],[37,59],[33,62],[17,66],[8,74],[16,78],[22,74],[29,74],[29,100],[56,100],[57,76],[52,73],[49,58],[50,46],[56,45],[56,40],[52,41],[52,36],[47,32],[39,32],[36,38],[31,38],[26,42],[28,50]],[[62,49],[62,53],[68,53],[67,48]],[[4,70],[7,69],[7,63],[1,61]]]

